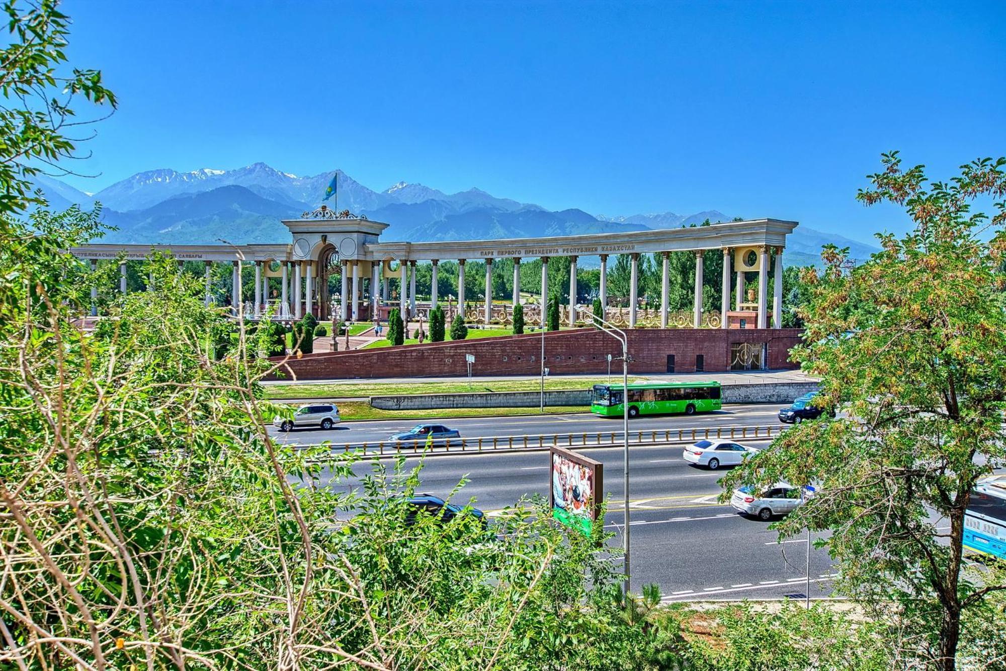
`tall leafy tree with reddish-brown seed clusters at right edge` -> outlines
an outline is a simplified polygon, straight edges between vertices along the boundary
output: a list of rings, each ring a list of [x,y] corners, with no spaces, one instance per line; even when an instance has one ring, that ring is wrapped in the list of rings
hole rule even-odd
[[[963,619],[1006,590],[967,567],[962,546],[975,484],[1006,466],[1006,210],[996,203],[991,220],[970,211],[1006,195],[1006,159],[932,185],[896,153],[883,166],[858,198],[903,206],[914,229],[879,235],[882,251],[859,266],[826,247],[824,272],[803,278],[806,336],[793,356],[821,377],[819,402],[847,416],[786,432],[725,485],[817,485],[781,531],[830,531],[838,589],[885,617],[899,612],[906,654],[951,671]]]

